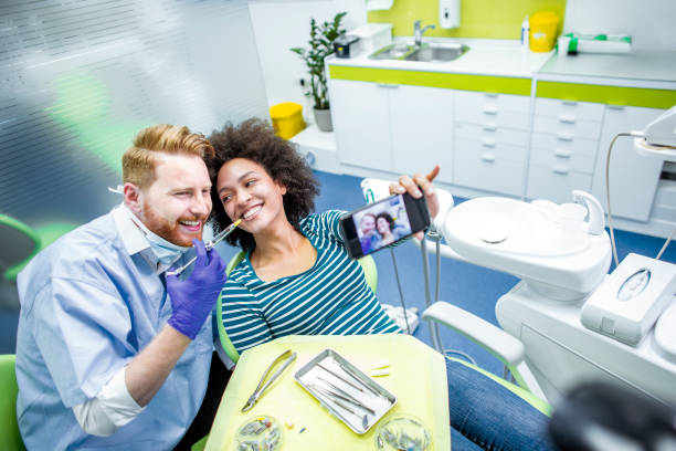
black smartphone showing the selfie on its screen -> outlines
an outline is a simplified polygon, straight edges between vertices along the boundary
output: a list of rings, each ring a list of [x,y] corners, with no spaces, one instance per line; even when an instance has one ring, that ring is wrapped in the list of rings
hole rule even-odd
[[[346,248],[352,259],[379,251],[430,227],[425,198],[394,195],[361,207],[340,219]]]

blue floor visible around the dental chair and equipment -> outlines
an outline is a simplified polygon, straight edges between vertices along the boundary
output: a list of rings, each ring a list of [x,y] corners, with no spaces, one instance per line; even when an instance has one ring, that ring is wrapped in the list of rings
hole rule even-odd
[[[317,199],[317,211],[331,208],[352,210],[363,204],[359,188],[361,179],[350,176],[337,176],[328,172],[316,172],[321,182],[321,193]],[[458,201],[457,199],[456,201]],[[655,256],[664,240],[631,232],[616,231],[619,256],[622,260],[629,252]],[[229,260],[236,252],[229,247],[218,248],[224,259]],[[408,307],[425,306],[422,275],[422,256],[412,243],[405,243],[394,250],[403,284],[404,301]],[[388,250],[373,255],[379,271],[378,297],[383,303],[400,305],[400,295]],[[663,260],[676,262],[674,244],[667,249]],[[433,268],[432,268],[433,270]],[[509,274],[487,270],[467,263],[442,259],[441,300],[453,303],[482,318],[496,324],[495,303],[509,291],[518,280]],[[433,293],[432,293],[433,294]],[[13,311],[0,311],[0,354],[13,353],[15,348],[18,314]],[[427,324],[420,325],[414,334],[426,344],[431,344]],[[483,368],[501,375],[501,364],[478,345],[448,329],[441,329],[445,348],[461,349],[472,355]]]

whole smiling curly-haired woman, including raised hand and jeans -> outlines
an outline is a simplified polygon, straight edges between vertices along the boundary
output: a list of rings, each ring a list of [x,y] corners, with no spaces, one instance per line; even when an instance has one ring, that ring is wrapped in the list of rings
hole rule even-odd
[[[246,252],[230,273],[216,316],[235,348],[292,334],[400,332],[347,254],[338,227],[344,212],[310,214],[318,183],[291,144],[258,119],[228,124],[209,140],[214,231],[242,219],[226,240]],[[437,174],[439,166],[426,176],[402,176],[390,192],[424,195],[434,217]],[[545,415],[461,363],[447,360],[446,369],[454,448],[552,449]]]

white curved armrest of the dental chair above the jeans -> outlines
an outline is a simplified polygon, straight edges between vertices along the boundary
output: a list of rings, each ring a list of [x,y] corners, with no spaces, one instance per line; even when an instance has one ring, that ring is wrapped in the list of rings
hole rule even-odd
[[[524,345],[499,327],[448,304],[435,302],[422,314],[425,321],[433,321],[460,332],[482,345],[508,368],[517,384],[542,400],[547,400],[535,376],[524,360]]]

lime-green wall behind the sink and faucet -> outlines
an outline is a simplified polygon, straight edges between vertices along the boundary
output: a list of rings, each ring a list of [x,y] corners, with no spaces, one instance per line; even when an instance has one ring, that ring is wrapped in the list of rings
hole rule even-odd
[[[436,25],[425,36],[520,39],[524,18],[538,11],[553,11],[563,29],[566,0],[461,0],[461,25],[452,30],[439,28],[437,0],[394,0],[387,11],[369,11],[368,21],[391,23],[398,36],[412,36],[413,22],[422,20]]]

